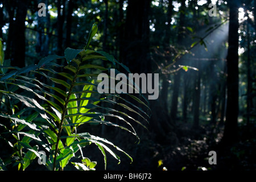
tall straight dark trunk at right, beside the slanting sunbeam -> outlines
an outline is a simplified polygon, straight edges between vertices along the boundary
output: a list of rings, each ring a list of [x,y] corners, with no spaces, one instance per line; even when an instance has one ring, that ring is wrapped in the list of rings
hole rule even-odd
[[[239,1],[229,1],[229,48],[227,57],[227,89],[226,122],[224,137],[225,144],[238,140],[238,8]]]

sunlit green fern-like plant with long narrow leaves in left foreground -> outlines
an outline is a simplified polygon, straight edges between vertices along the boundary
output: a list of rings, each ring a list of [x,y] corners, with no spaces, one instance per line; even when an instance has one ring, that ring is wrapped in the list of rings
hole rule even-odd
[[[82,125],[100,123],[120,127],[138,138],[129,120],[140,125],[142,123],[123,111],[115,110],[113,105],[138,114],[143,120],[147,121],[135,110],[149,117],[142,109],[119,94],[101,95],[97,94],[97,89],[93,89],[97,88],[97,78],[94,81],[97,74],[92,73],[90,69],[108,71],[108,68],[89,64],[90,60],[101,59],[113,65],[122,65],[106,52],[88,49],[90,40],[96,33],[97,25],[94,24],[85,49],[67,48],[64,51],[65,56],[50,55],[41,59],[38,64],[24,68],[1,67],[2,72],[6,72],[0,78],[2,109],[6,110],[0,114],[4,119],[1,126],[5,129],[1,138],[12,148],[11,153],[1,159],[1,169],[7,169],[11,164],[11,167],[18,165],[18,169],[25,170],[32,160],[39,158],[39,163],[44,161],[49,170],[63,170],[69,160],[77,169],[93,170],[97,163],[90,162],[83,154],[84,147],[91,143],[96,144],[102,152],[105,169],[106,152],[120,162],[119,156],[108,145],[122,151],[131,162],[133,161],[130,155],[112,142],[79,132]],[[59,65],[53,62],[56,59],[66,61]],[[139,98],[130,97],[137,103],[144,104]],[[102,106],[100,102],[107,104]],[[115,124],[113,119],[108,121],[105,117],[118,118],[127,126]],[[10,139],[10,136],[14,140]],[[48,159],[43,159],[46,156]]]

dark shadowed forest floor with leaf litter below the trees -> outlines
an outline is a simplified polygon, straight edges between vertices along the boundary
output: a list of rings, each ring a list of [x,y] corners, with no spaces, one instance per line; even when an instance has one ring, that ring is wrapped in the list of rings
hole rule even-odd
[[[140,143],[134,143],[134,136],[123,136],[118,130],[106,130],[107,139],[126,151],[133,162],[122,152],[117,152],[121,163],[107,155],[107,170],[143,171],[211,171],[211,170],[255,170],[256,169],[256,125],[247,136],[246,127],[240,125],[240,142],[232,146],[220,146],[224,127],[210,127],[209,123],[199,129],[192,129],[191,123],[182,123],[163,140],[157,140],[154,133],[143,131]],[[99,132],[99,131],[97,131]],[[111,136],[109,138],[109,136]],[[245,137],[247,136],[247,137]],[[87,152],[86,152],[87,151]],[[96,146],[88,146],[85,156],[97,161],[97,170],[104,170],[104,160]],[[216,151],[217,164],[208,162],[209,151]]]

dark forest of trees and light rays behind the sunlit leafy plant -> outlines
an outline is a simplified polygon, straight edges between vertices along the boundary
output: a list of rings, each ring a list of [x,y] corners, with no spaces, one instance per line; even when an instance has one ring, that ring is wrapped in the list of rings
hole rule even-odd
[[[38,15],[39,3],[46,16]],[[216,16],[208,14],[210,3]],[[0,38],[5,61],[21,68],[84,47],[96,23],[91,47],[131,73],[159,73],[148,131],[136,127],[139,144],[115,127],[85,128],[134,159],[117,165],[109,157],[107,169],[255,170],[255,15],[255,0],[5,0]],[[212,150],[216,165],[208,163]],[[89,146],[86,155],[104,169],[100,151]]]

